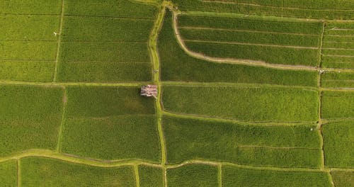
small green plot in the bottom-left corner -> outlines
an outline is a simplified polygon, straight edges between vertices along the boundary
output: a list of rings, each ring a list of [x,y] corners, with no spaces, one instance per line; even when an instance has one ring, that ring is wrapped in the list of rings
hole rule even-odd
[[[14,160],[0,163],[1,186],[15,187],[17,185],[17,162]]]

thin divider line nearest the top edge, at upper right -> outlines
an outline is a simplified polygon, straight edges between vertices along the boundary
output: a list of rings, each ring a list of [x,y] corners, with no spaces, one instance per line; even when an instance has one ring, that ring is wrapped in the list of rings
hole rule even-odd
[[[230,2],[230,1],[220,1],[220,0],[201,0],[205,3],[216,3],[216,4],[236,4],[236,5],[244,5],[244,6],[257,6],[264,8],[284,8],[289,10],[305,10],[305,11],[353,11],[352,9],[334,9],[334,8],[299,8],[299,7],[287,7],[287,6],[270,6],[270,5],[262,5],[262,4],[248,4],[241,2]]]

